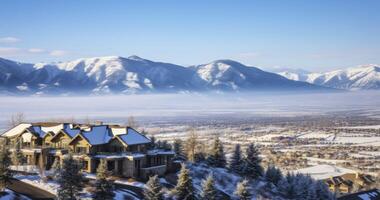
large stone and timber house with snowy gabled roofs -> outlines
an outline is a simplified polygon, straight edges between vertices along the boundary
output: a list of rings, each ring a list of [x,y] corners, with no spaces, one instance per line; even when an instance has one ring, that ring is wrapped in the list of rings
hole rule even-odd
[[[62,163],[69,153],[95,173],[101,159],[115,176],[147,178],[172,167],[173,151],[155,149],[131,127],[71,123],[22,123],[1,135],[11,148],[20,146],[28,165]],[[12,149],[11,149],[12,150]]]

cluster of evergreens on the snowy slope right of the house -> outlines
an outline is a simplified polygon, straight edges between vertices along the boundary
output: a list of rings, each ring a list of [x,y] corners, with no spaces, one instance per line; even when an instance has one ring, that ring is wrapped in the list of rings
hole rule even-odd
[[[165,143],[166,144],[166,143]],[[176,153],[176,159],[183,159],[178,174],[176,186],[168,195],[164,195],[163,188],[157,176],[150,177],[144,192],[146,200],[217,200],[221,199],[217,189],[214,175],[210,173],[202,181],[200,192],[196,192],[186,163],[206,164],[210,168],[225,168],[230,173],[241,177],[237,184],[233,199],[249,200],[255,195],[262,198],[278,199],[304,199],[304,200],[330,200],[335,199],[333,193],[322,181],[316,181],[308,175],[287,173],[283,174],[280,169],[271,165],[266,170],[261,165],[258,147],[251,143],[244,153],[239,144],[234,146],[232,155],[227,159],[222,142],[215,137],[210,148],[202,148],[197,134],[191,131],[185,141],[176,139],[171,145]],[[253,183],[264,183],[254,189]],[[255,192],[260,193],[254,194]]]

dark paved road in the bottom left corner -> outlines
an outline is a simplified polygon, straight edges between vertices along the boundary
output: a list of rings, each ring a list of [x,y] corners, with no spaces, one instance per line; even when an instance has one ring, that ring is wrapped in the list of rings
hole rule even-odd
[[[56,197],[55,195],[45,190],[41,190],[40,188],[34,187],[17,179],[12,179],[11,184],[8,186],[8,189],[25,195],[31,199],[53,200]]]

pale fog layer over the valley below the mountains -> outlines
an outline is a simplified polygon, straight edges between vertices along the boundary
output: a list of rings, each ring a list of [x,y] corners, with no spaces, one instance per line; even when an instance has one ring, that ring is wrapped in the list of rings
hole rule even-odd
[[[380,93],[236,93],[161,94],[90,97],[1,97],[0,129],[15,113],[27,121],[72,119],[125,123],[247,120],[265,117],[358,116],[380,117]]]

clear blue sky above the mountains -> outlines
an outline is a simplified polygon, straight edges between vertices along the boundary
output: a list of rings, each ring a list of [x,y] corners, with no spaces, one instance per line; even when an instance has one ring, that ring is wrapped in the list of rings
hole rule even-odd
[[[380,64],[377,0],[1,0],[0,57],[139,55],[330,70]]]

